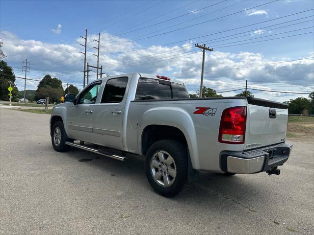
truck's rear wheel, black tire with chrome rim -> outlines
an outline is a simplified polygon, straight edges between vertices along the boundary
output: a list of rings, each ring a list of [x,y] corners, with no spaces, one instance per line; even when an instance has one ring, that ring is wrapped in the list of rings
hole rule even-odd
[[[186,146],[173,140],[155,142],[147,151],[145,171],[157,193],[165,197],[177,195],[187,183]]]

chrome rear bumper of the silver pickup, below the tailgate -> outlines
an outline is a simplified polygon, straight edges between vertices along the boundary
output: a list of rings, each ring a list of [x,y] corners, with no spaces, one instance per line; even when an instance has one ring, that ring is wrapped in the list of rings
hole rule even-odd
[[[250,174],[271,171],[287,162],[292,144],[280,143],[245,152],[223,151],[220,154],[220,168],[224,172]]]

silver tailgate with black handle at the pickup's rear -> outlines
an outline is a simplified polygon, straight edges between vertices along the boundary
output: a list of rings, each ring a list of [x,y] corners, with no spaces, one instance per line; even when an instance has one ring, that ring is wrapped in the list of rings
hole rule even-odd
[[[288,104],[247,97],[244,150],[286,141]]]

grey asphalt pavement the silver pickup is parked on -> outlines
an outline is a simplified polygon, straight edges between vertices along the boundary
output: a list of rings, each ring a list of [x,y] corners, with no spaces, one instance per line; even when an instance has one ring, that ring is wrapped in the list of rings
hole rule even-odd
[[[205,172],[164,198],[142,157],[55,152],[48,115],[0,109],[0,234],[314,234],[313,140],[281,171]]]

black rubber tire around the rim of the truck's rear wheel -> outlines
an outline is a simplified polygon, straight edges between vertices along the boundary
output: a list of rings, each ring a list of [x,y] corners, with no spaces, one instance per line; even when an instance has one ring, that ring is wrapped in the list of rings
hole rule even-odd
[[[175,178],[170,177],[172,178],[173,182],[170,186],[167,187],[160,185],[160,183],[157,183],[157,181],[154,179],[151,168],[153,158],[159,151],[165,151],[166,153],[169,153],[170,157],[173,159],[176,168],[176,176]],[[152,144],[152,146],[150,146],[146,154],[145,172],[148,182],[158,194],[165,197],[173,197],[185,188],[187,184],[187,157],[187,147],[179,141],[162,140],[157,141]],[[169,167],[173,168],[174,164]],[[161,175],[162,179],[164,177],[163,174]],[[168,168],[166,174],[168,175]]]

